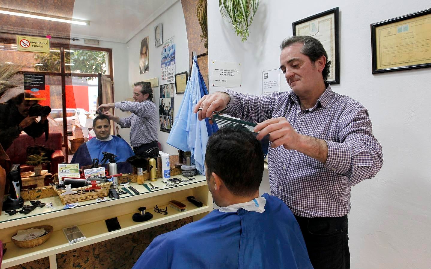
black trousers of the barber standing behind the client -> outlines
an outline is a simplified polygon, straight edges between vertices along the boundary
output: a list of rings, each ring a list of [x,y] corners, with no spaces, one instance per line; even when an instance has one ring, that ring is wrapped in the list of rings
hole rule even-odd
[[[304,236],[311,264],[315,269],[348,269],[347,215],[343,217],[295,216]]]

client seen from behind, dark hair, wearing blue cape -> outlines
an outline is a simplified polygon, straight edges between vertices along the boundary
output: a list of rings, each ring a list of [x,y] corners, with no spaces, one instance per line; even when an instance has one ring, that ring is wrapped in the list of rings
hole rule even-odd
[[[259,196],[263,153],[251,132],[212,134],[205,165],[215,210],[157,236],[134,268],[312,268],[290,209],[275,196]]]

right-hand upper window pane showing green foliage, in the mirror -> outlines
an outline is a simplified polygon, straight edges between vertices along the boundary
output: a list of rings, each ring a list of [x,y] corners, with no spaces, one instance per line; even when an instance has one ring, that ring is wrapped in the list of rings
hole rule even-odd
[[[108,52],[86,49],[66,49],[64,54],[66,72],[109,74]]]

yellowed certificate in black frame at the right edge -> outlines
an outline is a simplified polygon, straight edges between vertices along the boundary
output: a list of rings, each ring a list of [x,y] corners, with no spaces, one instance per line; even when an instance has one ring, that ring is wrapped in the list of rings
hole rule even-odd
[[[431,67],[431,9],[371,24],[372,72]]]

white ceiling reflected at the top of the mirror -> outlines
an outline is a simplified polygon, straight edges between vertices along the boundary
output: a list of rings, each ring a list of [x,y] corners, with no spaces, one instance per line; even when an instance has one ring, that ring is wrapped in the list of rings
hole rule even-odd
[[[179,0],[75,0],[70,37],[127,43],[134,35]]]

